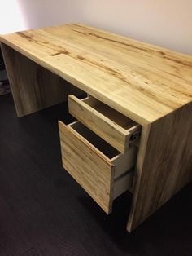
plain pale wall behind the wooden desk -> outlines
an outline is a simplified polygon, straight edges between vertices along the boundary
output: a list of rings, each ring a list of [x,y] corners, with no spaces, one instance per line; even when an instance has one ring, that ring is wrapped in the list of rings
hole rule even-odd
[[[78,21],[192,55],[192,0],[3,2],[17,2],[18,6],[11,12],[14,4],[4,4],[4,29],[0,24],[0,33]]]

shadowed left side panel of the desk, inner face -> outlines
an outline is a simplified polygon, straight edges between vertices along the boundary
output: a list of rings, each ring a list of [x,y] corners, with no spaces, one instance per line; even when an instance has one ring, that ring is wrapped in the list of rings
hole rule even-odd
[[[2,53],[18,117],[66,101],[68,94],[81,94],[81,90],[5,44]]]

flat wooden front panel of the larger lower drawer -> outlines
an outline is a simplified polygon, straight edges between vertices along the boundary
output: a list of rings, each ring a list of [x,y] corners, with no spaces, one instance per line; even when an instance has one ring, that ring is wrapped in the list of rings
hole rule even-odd
[[[63,168],[107,214],[110,214],[115,167],[91,147],[81,135],[60,121],[59,135]]]

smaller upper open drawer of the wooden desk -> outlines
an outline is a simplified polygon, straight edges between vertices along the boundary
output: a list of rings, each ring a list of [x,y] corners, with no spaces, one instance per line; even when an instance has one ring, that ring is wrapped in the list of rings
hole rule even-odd
[[[141,126],[91,96],[68,96],[69,113],[120,152],[140,137]]]

